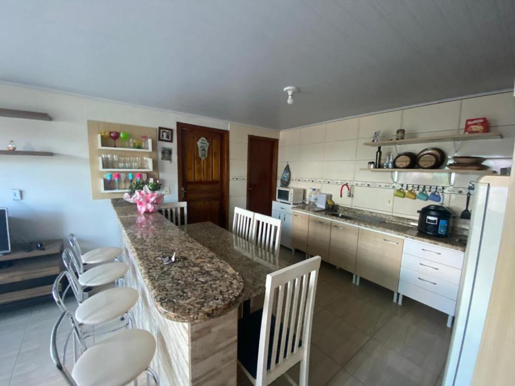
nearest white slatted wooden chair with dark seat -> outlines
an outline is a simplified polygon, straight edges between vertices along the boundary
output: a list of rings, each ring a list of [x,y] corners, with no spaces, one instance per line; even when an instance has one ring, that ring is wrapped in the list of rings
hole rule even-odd
[[[238,365],[252,384],[266,386],[300,362],[299,385],[307,386],[320,256],[266,276],[262,311],[238,321]],[[259,335],[258,335],[258,331]]]

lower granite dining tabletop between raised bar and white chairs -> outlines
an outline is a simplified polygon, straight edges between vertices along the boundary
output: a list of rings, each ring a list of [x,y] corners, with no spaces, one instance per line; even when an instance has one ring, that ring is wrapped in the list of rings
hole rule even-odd
[[[243,300],[265,292],[267,274],[298,262],[274,256],[212,222],[189,224],[184,230],[243,276]]]

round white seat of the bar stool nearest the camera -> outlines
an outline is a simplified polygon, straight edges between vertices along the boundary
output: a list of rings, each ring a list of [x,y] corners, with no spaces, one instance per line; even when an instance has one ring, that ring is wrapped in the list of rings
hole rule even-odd
[[[119,332],[85,350],[72,369],[79,386],[123,386],[149,366],[156,340],[146,330]]]

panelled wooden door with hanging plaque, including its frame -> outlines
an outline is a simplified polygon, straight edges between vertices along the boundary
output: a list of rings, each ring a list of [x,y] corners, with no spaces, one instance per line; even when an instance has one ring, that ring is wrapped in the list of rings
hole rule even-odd
[[[211,221],[227,228],[228,134],[177,122],[178,197],[188,203],[188,223]],[[199,150],[201,138],[209,144],[207,151]]]

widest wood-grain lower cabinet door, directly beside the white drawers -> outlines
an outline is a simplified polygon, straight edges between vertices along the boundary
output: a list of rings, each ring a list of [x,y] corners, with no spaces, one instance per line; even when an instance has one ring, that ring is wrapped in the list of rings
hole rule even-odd
[[[359,230],[354,273],[397,292],[403,242],[399,237]]]

